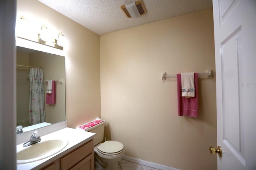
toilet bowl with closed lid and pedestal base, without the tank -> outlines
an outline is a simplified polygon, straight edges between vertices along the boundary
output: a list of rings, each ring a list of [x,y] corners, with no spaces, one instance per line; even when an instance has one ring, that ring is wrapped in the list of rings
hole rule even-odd
[[[94,147],[94,153],[105,163],[106,170],[117,170],[124,155],[124,145],[118,141],[105,141]]]

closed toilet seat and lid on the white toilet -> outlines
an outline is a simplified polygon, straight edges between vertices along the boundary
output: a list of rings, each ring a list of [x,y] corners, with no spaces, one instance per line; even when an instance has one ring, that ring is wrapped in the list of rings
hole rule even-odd
[[[97,150],[104,155],[116,155],[123,152],[124,145],[118,141],[105,141],[97,147]]]

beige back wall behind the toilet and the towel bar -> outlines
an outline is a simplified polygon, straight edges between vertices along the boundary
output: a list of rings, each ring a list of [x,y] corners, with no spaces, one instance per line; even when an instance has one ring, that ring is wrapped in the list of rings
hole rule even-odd
[[[176,79],[215,68],[212,10],[100,36],[101,115],[125,155],[182,170],[217,169],[215,78],[199,80],[199,117],[178,117]]]

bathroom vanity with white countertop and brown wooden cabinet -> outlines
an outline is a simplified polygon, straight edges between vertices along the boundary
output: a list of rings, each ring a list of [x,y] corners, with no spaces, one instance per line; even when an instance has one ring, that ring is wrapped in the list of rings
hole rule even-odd
[[[39,131],[40,134],[40,131]],[[95,133],[64,128],[59,131],[41,136],[42,141],[63,139],[68,141],[66,147],[56,154],[28,163],[17,160],[17,170],[94,170],[93,138]],[[40,142],[39,142],[40,143]],[[39,144],[38,143],[38,144]],[[36,143],[37,144],[37,143]],[[33,145],[36,145],[33,144]],[[17,145],[17,152],[26,149],[23,144]],[[32,146],[32,145],[31,145]],[[50,145],[48,145],[50,147]],[[30,146],[29,146],[30,147]],[[33,147],[33,146],[32,146]],[[36,146],[35,146],[36,147]],[[40,151],[40,149],[38,149]],[[36,151],[35,151],[36,152]],[[33,153],[31,153],[33,157]],[[17,156],[18,158],[18,156]]]

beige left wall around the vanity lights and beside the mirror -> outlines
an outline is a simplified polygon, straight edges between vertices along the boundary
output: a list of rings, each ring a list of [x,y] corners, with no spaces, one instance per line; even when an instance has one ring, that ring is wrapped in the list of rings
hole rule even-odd
[[[100,36],[36,0],[17,0],[17,18],[45,24],[67,39],[66,118],[68,127],[100,117]],[[38,28],[39,29],[39,28]]]

